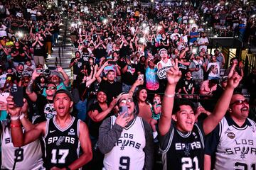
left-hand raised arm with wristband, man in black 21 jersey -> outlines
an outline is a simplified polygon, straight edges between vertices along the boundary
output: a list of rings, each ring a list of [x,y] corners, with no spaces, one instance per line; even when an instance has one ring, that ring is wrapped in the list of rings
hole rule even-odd
[[[171,67],[166,73],[167,86],[162,102],[162,113],[159,120],[160,134],[166,135],[171,128],[171,115],[174,108],[175,87],[181,78],[181,71],[178,69],[178,60],[175,60],[175,67]]]

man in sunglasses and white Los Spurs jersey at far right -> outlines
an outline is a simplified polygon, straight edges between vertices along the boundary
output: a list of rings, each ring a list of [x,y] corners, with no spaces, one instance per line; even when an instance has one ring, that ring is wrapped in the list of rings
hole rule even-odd
[[[255,169],[256,123],[250,120],[249,102],[241,94],[234,94],[228,114],[206,138],[205,169],[215,152],[215,169]]]

